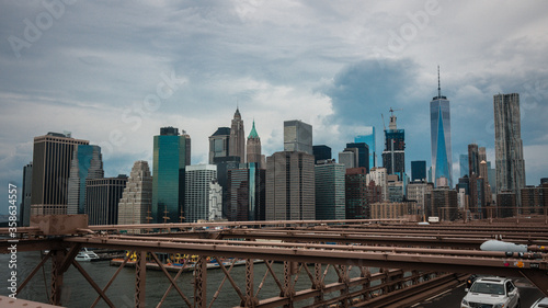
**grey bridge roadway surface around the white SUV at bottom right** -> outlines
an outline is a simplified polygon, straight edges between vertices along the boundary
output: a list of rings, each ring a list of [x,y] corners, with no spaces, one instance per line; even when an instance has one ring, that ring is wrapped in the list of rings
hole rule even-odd
[[[520,296],[522,299],[522,308],[529,308],[538,298],[543,297],[540,290],[533,286],[525,278],[515,278],[515,285],[520,288]],[[465,285],[459,286],[450,292],[416,304],[413,308],[459,308],[463,297],[465,297]]]

